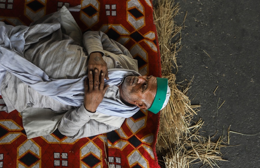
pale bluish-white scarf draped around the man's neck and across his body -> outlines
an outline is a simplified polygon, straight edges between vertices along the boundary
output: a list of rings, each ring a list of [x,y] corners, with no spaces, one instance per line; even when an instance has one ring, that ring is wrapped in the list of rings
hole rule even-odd
[[[5,24],[1,22],[0,25],[4,27]],[[87,75],[78,79],[50,79],[44,71],[27,61],[23,57],[23,49],[25,46],[24,33],[28,28],[26,26],[17,26],[12,29],[10,27],[0,28],[3,29],[0,39],[0,80],[5,70],[7,70],[42,95],[49,96],[67,105],[81,106],[84,96],[78,96],[77,94],[84,93],[84,79]],[[10,30],[5,33],[8,29]],[[105,84],[119,84],[126,75],[140,74],[128,69],[109,69],[109,80],[105,80]],[[103,114],[128,118],[133,116],[139,109],[136,106],[129,107],[104,98],[97,111]]]

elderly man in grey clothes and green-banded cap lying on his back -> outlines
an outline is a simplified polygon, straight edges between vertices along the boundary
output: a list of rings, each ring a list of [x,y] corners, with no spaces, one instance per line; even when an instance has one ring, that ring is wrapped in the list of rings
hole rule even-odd
[[[0,31],[0,110],[21,112],[27,138],[57,128],[70,138],[106,133],[168,102],[167,79],[141,76],[129,51],[102,32],[82,37],[66,7],[30,27],[0,22]]]

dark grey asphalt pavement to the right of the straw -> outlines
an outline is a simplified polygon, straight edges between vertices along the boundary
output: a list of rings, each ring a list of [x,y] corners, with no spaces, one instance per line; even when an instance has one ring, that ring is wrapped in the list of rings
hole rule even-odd
[[[184,0],[181,23],[183,48],[177,62],[182,67],[177,82],[191,80],[188,96],[192,104],[200,103],[198,114],[205,125],[203,135],[222,135],[229,125],[231,131],[256,134],[260,132],[260,22],[259,0]],[[204,52],[207,52],[209,56]],[[218,86],[215,94],[214,90]],[[219,101],[219,103],[218,103]],[[225,101],[225,102],[224,102]],[[220,107],[217,114],[218,107]],[[259,168],[260,134],[230,134],[230,145],[222,148],[221,168]],[[201,165],[193,165],[198,168]],[[206,167],[206,166],[203,166]]]

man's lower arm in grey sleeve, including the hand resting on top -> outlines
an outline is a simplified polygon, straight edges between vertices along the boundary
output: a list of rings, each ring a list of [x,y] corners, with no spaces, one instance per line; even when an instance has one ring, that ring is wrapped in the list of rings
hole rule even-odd
[[[109,87],[104,86],[104,80],[103,72],[101,72],[99,76],[99,71],[97,69],[95,69],[93,72],[89,71],[88,78],[86,78],[84,84],[84,105],[78,109],[70,110],[64,114],[64,117],[62,117],[62,120],[58,126],[58,129],[62,134],[68,137],[75,137],[75,135],[79,133],[79,130],[82,130],[81,128],[83,125],[90,122],[91,116],[93,116],[93,114],[96,112],[97,107],[103,100],[105,92]],[[107,125],[104,123],[94,125],[88,123],[87,125],[89,127],[88,129],[93,129],[93,131],[95,131],[93,132],[94,134],[105,133],[109,131]],[[79,134],[82,135],[82,133]]]

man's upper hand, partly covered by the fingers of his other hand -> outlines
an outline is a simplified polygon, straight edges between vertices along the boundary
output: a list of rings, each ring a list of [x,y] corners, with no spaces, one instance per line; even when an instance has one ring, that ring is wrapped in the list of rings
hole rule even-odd
[[[109,80],[107,72],[107,63],[103,60],[100,52],[92,52],[88,61],[88,73],[97,69],[99,73],[102,71],[105,75],[105,79]],[[99,74],[100,75],[100,74]]]

